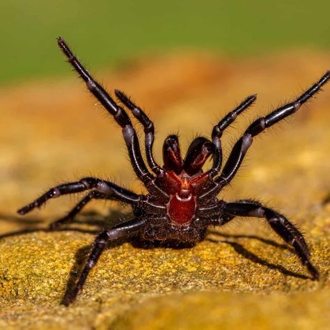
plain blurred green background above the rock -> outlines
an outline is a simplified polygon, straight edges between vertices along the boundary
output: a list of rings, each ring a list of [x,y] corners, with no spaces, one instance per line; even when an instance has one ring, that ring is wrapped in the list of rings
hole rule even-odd
[[[330,49],[330,1],[1,0],[0,84],[70,74],[62,36],[93,69],[178,49],[256,56]]]

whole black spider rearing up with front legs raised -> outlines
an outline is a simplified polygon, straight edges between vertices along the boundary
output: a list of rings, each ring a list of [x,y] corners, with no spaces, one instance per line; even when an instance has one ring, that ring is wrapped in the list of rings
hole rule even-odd
[[[242,164],[253,138],[266,128],[296,112],[320,88],[329,81],[330,71],[313,84],[296,100],[279,107],[267,116],[255,120],[238,139],[224,164],[222,171],[221,136],[223,131],[248,107],[256,101],[256,95],[246,97],[233,111],[230,111],[213,127],[212,140],[198,136],[191,142],[182,158],[177,135],[169,135],[163,144],[164,165],[159,166],[152,155],[155,129],[146,113],[132,102],[123,92],[115,90],[118,100],[131,111],[136,120],[143,125],[146,146],[146,166],[141,155],[139,139],[127,112],[91,77],[62,38],[58,46],[93,95],[113,116],[122,128],[130,162],[136,176],[143,182],[148,194],[138,195],[113,182],[97,178],[83,178],[77,182],[60,184],[49,189],[32,203],[17,212],[26,214],[40,207],[50,198],[64,194],[74,194],[89,190],[88,194],[68,213],[66,217],[53,222],[50,229],[56,229],[64,223],[72,222],[74,216],[93,199],[121,201],[132,206],[134,218],[118,223],[112,228],[104,228],[96,237],[84,269],[72,287],[71,293],[63,304],[68,306],[83,288],[88,273],[95,266],[109,241],[122,237],[138,237],[145,242],[177,242],[194,245],[201,242],[208,226],[223,226],[235,217],[265,218],[269,226],[290,246],[308,269],[314,280],[319,273],[310,261],[311,253],[304,236],[282,214],[265,207],[258,201],[239,200],[227,203],[217,198],[219,192],[235,177]],[[206,160],[212,158],[212,168],[203,171]]]

